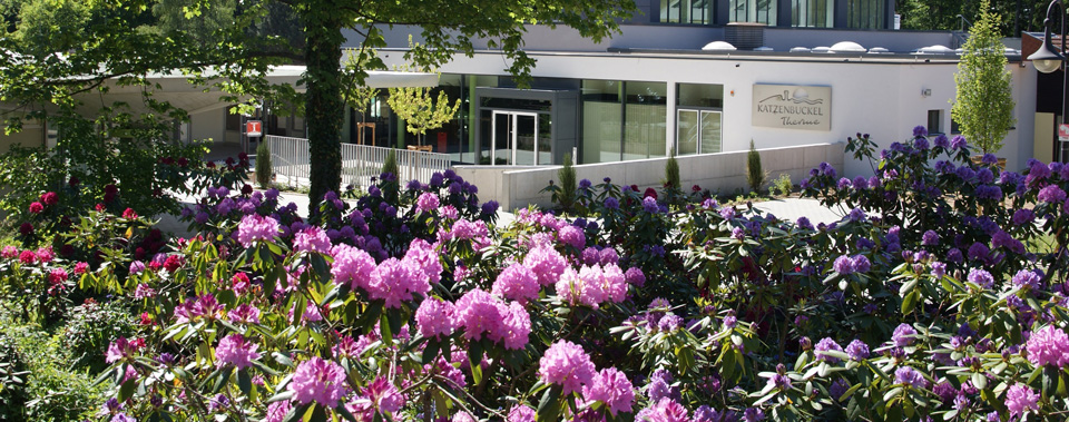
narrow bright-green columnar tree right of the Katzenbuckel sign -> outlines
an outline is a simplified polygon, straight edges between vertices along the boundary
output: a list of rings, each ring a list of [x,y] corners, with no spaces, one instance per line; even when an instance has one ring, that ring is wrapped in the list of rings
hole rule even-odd
[[[997,153],[1013,126],[1013,97],[1002,37],[996,28],[999,17],[983,10],[969,31],[954,73],[958,92],[950,114],[965,139],[984,153]]]

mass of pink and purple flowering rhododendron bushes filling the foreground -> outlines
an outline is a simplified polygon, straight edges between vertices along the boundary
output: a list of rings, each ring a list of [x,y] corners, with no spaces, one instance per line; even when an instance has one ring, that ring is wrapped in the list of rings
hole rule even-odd
[[[136,303],[99,351],[105,421],[1065,419],[1069,166],[874,145],[847,147],[874,177],[804,181],[832,224],[609,179],[585,218],[498,224],[452,171],[383,175],[307,220],[212,187],[193,238],[0,271],[42,308]]]

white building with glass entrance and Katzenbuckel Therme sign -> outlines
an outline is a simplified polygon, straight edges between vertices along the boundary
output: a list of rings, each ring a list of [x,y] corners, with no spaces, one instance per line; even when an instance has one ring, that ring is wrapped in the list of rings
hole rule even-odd
[[[538,63],[530,87],[507,72],[489,43],[441,69],[440,89],[461,100],[457,118],[429,133],[435,151],[460,164],[553,165],[626,161],[845,140],[880,145],[914,126],[955,133],[950,108],[964,38],[893,29],[884,0],[650,0],[594,42],[567,28],[528,28]],[[418,28],[394,28],[381,53],[402,65]],[[359,43],[350,37],[350,46]],[[416,39],[416,41],[419,41]],[[1018,47],[1019,49],[1019,47]],[[1032,156],[1036,71],[1007,49],[1018,125],[999,153],[1011,168]],[[382,101],[384,102],[384,101]],[[377,114],[376,114],[377,112]],[[414,137],[386,108],[380,145]],[[355,112],[353,114],[356,115]],[[390,129],[383,131],[382,127]],[[847,160],[847,174],[872,173]]]

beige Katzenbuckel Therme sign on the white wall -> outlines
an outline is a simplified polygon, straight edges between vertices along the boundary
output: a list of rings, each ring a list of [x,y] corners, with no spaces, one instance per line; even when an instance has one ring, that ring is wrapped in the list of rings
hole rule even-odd
[[[755,84],[754,126],[832,130],[832,87]]]

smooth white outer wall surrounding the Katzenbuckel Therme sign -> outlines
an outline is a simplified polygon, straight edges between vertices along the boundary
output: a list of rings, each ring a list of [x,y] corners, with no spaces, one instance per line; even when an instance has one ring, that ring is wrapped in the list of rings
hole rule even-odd
[[[610,55],[538,53],[534,76],[576,79],[609,79],[724,85],[724,150],[744,150],[753,139],[757,148],[845,141],[857,133],[871,134],[881,147],[902,141],[912,128],[928,124],[928,110],[944,110],[944,127],[950,128],[950,101],[954,98],[953,73],[957,61],[935,56],[912,60],[876,60],[869,55],[824,56],[846,61],[801,61],[774,58],[730,57],[729,55]],[[391,55],[391,60],[400,55]],[[841,58],[841,59],[840,59]],[[442,72],[507,75],[509,63],[494,52],[458,56]],[[1014,76],[1014,97],[1020,129],[1007,136],[1001,155],[1008,167],[1018,169],[1031,155],[1031,115],[1034,109],[1034,70],[1009,67]],[[1031,82],[1029,82],[1031,81]],[[774,129],[752,126],[751,107],[754,84],[814,85],[832,87],[832,129],[830,131]],[[1024,87],[1026,89],[1021,89]],[[932,90],[922,97],[921,90]],[[669,89],[671,91],[671,89]],[[734,94],[732,94],[734,91]],[[669,98],[669,100],[673,100]],[[668,110],[668,134],[675,134],[674,100]],[[1019,139],[1023,139],[1020,141]],[[1014,163],[1017,164],[1014,166]],[[865,163],[849,160],[845,174],[869,175]]]

